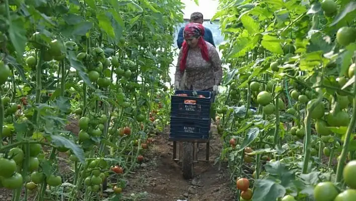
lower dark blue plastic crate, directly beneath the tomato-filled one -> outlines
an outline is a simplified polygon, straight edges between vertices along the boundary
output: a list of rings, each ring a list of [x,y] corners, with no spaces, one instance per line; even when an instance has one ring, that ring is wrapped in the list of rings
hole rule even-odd
[[[211,119],[170,117],[169,139],[209,139]]]

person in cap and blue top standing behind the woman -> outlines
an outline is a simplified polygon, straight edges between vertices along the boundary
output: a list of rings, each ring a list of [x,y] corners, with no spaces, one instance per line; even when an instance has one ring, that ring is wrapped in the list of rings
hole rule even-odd
[[[192,13],[191,19],[190,19],[189,22],[203,24],[203,22],[204,22],[203,19],[204,18],[203,18],[203,14],[202,13],[195,12],[195,13]],[[183,44],[183,41],[184,41],[183,31],[184,31],[184,27],[182,27],[181,30],[179,31],[178,38],[177,38],[177,45],[178,45],[178,47],[180,49],[182,48],[182,44]],[[203,35],[203,39],[205,41],[209,42],[210,44],[212,44],[215,47],[213,34],[210,31],[210,29],[205,28],[205,34]]]

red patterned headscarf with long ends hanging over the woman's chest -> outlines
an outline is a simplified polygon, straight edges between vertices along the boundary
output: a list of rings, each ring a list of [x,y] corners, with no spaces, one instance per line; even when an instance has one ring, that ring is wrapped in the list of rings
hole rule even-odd
[[[209,53],[208,53],[208,47],[207,44],[205,43],[203,36],[205,33],[205,29],[202,24],[199,23],[189,23],[186,25],[184,28],[184,38],[191,38],[191,37],[197,37],[198,39],[198,46],[202,51],[202,57],[204,60],[209,61]],[[189,45],[187,41],[183,42],[182,45],[182,51],[183,51],[183,56],[182,60],[180,61],[180,69],[183,72],[186,69],[186,63],[187,63],[187,57],[188,57],[188,50],[189,50]]]

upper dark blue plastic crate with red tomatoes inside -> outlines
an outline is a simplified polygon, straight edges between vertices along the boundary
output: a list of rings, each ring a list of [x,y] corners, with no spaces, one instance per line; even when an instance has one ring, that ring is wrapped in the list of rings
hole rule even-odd
[[[188,96],[176,96],[176,94],[187,94]],[[198,119],[210,118],[214,94],[209,91],[197,91],[197,94],[203,95],[205,98],[193,96],[193,91],[176,91],[175,95],[171,96],[170,115]],[[187,103],[187,100],[195,101],[195,103]]]

